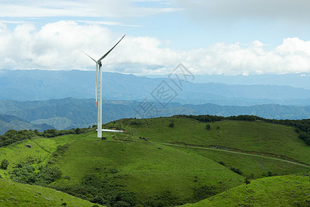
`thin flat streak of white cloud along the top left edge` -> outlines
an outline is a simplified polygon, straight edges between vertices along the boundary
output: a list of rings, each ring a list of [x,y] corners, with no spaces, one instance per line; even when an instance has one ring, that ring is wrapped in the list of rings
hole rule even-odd
[[[127,0],[0,1],[0,17],[144,17],[179,10],[169,5],[161,8],[135,6],[134,1]]]

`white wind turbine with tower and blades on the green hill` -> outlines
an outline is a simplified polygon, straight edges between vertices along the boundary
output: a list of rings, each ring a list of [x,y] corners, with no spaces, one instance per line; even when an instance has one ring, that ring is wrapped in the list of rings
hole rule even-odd
[[[98,127],[97,127],[97,137],[98,138],[102,138],[102,59],[104,59],[105,57],[107,57],[107,55],[109,55],[109,53],[117,46],[117,44],[125,37],[125,35],[115,44],[115,46],[113,48],[111,48],[109,51],[107,51],[107,53],[105,53],[105,55],[103,55],[103,57],[99,58],[97,61],[95,59],[93,59],[92,57],[90,57],[90,55],[87,55],[86,52],[82,52],[87,55],[88,57],[90,57],[90,59],[92,59],[93,61],[95,61],[96,63],[96,105],[98,108]],[[99,77],[98,77],[98,66],[99,66]],[[99,94],[97,94],[97,88],[98,88],[98,78],[99,78]],[[97,96],[98,96],[98,101],[97,101]]]

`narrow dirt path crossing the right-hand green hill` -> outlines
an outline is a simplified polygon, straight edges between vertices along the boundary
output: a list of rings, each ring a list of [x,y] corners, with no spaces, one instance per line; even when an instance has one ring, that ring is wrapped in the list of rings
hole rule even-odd
[[[236,152],[236,151],[231,151],[231,150],[223,150],[223,149],[218,149],[218,148],[207,148],[207,147],[201,147],[201,146],[184,146],[184,145],[180,145],[180,144],[168,144],[168,143],[159,143],[159,144],[165,144],[168,146],[179,146],[179,147],[187,147],[187,148],[197,148],[197,149],[203,149],[203,150],[214,150],[214,151],[222,151],[222,152],[229,152],[229,153],[234,153],[234,154],[238,154],[238,155],[248,155],[248,156],[253,156],[253,157],[262,157],[262,158],[266,158],[266,159],[275,159],[278,161],[284,161],[287,162],[289,164],[296,164],[298,166],[303,166],[303,167],[307,167],[310,168],[310,166],[307,166],[306,164],[300,164],[298,162],[295,161],[289,161],[286,159],[279,159],[276,157],[267,157],[267,156],[262,156],[262,155],[254,155],[254,154],[249,154],[249,153],[245,153],[245,152]]]

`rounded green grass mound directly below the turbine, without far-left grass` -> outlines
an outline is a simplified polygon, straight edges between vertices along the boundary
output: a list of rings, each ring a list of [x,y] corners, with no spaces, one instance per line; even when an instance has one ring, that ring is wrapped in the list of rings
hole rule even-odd
[[[94,134],[71,144],[57,166],[71,178],[68,182],[80,181],[90,173],[107,175],[125,184],[140,199],[170,190],[178,199],[187,201],[192,197],[192,188],[223,182],[221,190],[225,190],[244,179],[194,153],[146,141],[99,141]],[[114,169],[118,172],[110,173]]]

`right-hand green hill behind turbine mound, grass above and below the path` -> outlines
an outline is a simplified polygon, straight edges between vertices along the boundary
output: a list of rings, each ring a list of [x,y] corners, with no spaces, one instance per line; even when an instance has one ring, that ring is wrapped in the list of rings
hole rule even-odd
[[[174,127],[169,124],[174,123]],[[207,157],[225,166],[240,169],[245,177],[288,175],[307,172],[310,146],[298,138],[295,128],[262,121],[218,121],[193,119],[123,119],[107,126],[125,128],[149,141],[173,144],[175,148]],[[172,146],[172,145],[170,145]],[[293,161],[290,163],[288,161]],[[296,163],[302,162],[304,165]]]

